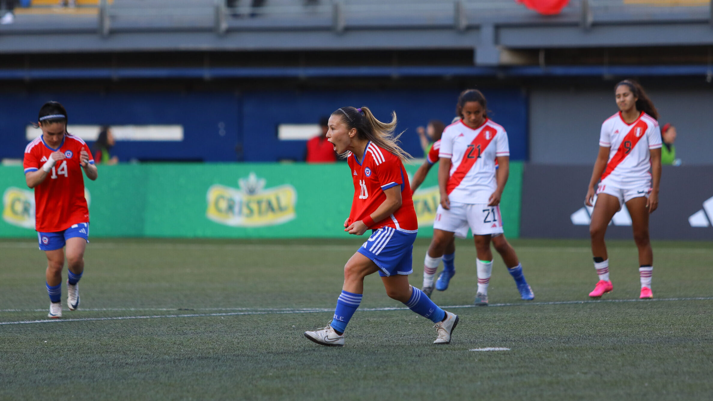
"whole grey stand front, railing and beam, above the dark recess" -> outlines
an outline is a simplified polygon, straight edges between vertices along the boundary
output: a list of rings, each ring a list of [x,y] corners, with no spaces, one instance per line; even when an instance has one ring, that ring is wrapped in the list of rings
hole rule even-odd
[[[543,16],[515,0],[34,0],[0,26],[0,53],[711,46],[709,0],[571,0]]]

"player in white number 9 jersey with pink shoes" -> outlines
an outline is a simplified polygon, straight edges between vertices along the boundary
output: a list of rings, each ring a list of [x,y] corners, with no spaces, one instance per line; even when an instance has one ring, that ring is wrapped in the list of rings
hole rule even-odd
[[[614,214],[626,204],[639,249],[640,298],[653,298],[654,256],[649,241],[649,214],[659,205],[662,144],[656,121],[658,113],[644,89],[634,80],[617,83],[615,98],[619,113],[602,124],[599,155],[585,197],[587,206],[594,204],[589,231],[594,267],[599,276],[589,296],[600,297],[614,288],[609,279],[604,234]],[[595,189],[597,182],[599,186]]]

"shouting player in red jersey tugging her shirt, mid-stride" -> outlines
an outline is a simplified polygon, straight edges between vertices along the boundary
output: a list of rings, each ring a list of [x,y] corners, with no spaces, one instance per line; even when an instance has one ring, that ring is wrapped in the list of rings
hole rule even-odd
[[[377,271],[389,297],[436,323],[435,344],[450,343],[458,324],[458,316],[438,308],[419,288],[409,285],[418,224],[404,171],[408,154],[397,145],[396,113],[392,116],[391,123],[382,123],[369,108],[345,107],[329,117],[327,140],[347,157],[354,182],[352,212],[344,231],[361,235],[371,229],[371,236],[344,266],[344,286],[332,322],[304,333],[321,345],[344,345],[344,330],[361,303],[364,278]]]

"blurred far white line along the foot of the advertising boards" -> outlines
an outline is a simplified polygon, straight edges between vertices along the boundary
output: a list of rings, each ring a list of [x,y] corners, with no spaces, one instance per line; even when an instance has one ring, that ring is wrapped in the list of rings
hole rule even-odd
[[[206,251],[213,251],[213,250],[235,250],[235,251],[240,251],[240,250],[251,250],[251,249],[262,249],[266,251],[280,251],[280,250],[286,250],[289,249],[290,251],[299,251],[299,250],[304,250],[304,251],[314,251],[314,250],[319,250],[319,251],[324,251],[325,249],[334,249],[334,250],[356,250],[359,249],[359,246],[361,244],[354,244],[352,245],[329,245],[329,246],[324,246],[324,245],[309,245],[309,244],[284,244],[284,245],[277,245],[277,244],[139,244],[139,243],[117,243],[117,242],[98,242],[98,243],[93,243],[88,245],[89,248],[94,248],[94,249],[130,249],[130,248],[154,248],[154,249],[188,249],[188,250],[206,250]],[[0,248],[37,248],[38,244],[36,242],[0,242]],[[573,252],[573,253],[579,253],[579,252],[589,252],[590,248],[588,246],[518,246],[518,250],[520,251],[528,251],[528,252],[550,252],[553,249],[556,249],[557,251],[562,251],[562,252]],[[710,254],[712,253],[711,250],[709,249],[700,249],[700,248],[679,248],[679,247],[672,247],[672,246],[666,246],[666,247],[661,247],[657,246],[657,250],[660,251],[666,251],[666,252],[681,252],[681,253],[689,253],[689,254]]]

